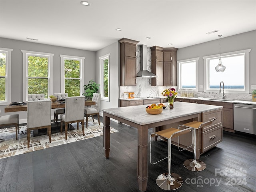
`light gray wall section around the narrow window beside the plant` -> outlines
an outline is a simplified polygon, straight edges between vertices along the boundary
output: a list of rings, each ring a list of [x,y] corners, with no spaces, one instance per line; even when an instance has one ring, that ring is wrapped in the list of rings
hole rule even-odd
[[[119,99],[119,42],[115,42],[109,46],[106,46],[105,48],[102,48],[101,50],[96,52],[96,80],[98,83],[100,82],[100,62],[99,57],[104,56],[106,54],[110,54],[109,63],[110,63],[110,94],[109,98],[110,101],[101,101],[100,102],[100,110],[106,109],[106,108],[115,108],[118,107],[118,99]],[[102,112],[101,112],[102,115]]]

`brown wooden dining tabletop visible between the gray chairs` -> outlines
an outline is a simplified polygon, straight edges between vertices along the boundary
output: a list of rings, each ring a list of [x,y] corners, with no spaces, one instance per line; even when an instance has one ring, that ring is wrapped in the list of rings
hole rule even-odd
[[[91,106],[91,105],[95,105],[96,102],[95,101],[91,101],[91,100],[85,100],[84,102],[84,106]],[[65,102],[64,101],[55,101],[52,102],[52,109],[56,109],[56,108],[65,108]],[[26,102],[21,102],[20,104],[16,104],[13,105],[12,103],[10,103],[8,106],[6,106],[4,108],[4,112],[18,112],[18,111],[27,111],[28,107]]]

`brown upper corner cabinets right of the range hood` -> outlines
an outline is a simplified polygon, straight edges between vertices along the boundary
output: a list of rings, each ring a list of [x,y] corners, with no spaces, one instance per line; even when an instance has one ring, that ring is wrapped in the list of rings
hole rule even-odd
[[[162,48],[153,46],[151,49],[152,86],[177,85],[177,50],[178,48]]]

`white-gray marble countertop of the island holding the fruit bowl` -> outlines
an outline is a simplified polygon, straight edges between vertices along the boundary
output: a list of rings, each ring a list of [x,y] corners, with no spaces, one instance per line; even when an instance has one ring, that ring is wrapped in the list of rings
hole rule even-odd
[[[164,104],[168,106],[168,103]],[[222,106],[174,102],[174,109],[170,110],[166,107],[166,109],[163,109],[162,113],[152,115],[146,112],[146,106],[147,105],[110,108],[102,109],[102,111],[139,125],[145,125],[223,108]]]

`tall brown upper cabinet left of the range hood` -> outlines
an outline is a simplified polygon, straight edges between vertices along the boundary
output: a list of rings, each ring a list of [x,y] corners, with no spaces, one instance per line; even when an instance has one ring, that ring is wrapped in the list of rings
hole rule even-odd
[[[136,44],[138,41],[122,38],[120,42],[120,86],[136,86]]]

